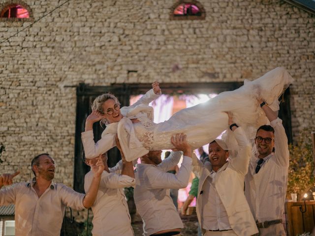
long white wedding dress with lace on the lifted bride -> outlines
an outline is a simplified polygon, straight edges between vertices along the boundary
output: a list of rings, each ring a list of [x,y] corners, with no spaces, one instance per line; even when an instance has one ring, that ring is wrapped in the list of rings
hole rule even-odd
[[[205,103],[183,109],[164,122],[156,124],[150,118],[142,118],[140,123],[133,124],[136,136],[145,148],[160,150],[173,148],[171,136],[185,133],[192,148],[199,148],[228,128],[225,112],[231,112],[233,121],[250,132],[267,123],[257,98],[277,111],[278,97],[291,82],[284,68],[275,68],[259,79],[245,81],[239,89],[222,92]],[[252,132],[248,136],[252,138]]]

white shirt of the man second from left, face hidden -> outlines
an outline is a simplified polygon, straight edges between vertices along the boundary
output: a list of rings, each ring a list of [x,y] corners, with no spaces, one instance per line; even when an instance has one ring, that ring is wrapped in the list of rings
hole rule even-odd
[[[109,172],[104,171],[101,176],[99,188],[93,211],[93,236],[133,236],[131,218],[124,194],[124,187],[135,185],[135,179],[121,175],[122,161]],[[94,173],[90,171],[85,175],[84,190],[89,191]]]

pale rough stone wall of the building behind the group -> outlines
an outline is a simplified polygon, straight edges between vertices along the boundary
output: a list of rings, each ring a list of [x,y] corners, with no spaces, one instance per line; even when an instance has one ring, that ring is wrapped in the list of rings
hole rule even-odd
[[[314,15],[283,0],[199,2],[205,20],[174,21],[174,0],[70,0],[2,43],[0,142],[6,152],[0,172],[20,168],[17,180],[29,179],[32,157],[49,152],[57,181],[72,185],[75,87],[82,82],[231,82],[284,66],[295,78],[293,134],[306,126],[315,130]],[[33,18],[0,21],[1,40],[60,1],[22,3]],[[138,72],[128,78],[128,70]]]

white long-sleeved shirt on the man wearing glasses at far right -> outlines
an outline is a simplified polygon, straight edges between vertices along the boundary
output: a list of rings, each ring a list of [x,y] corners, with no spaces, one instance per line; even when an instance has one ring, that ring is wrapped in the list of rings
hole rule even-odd
[[[289,167],[287,138],[280,118],[270,124],[275,129],[275,153],[264,158],[257,174],[258,158],[252,155],[245,177],[245,195],[254,219],[259,222],[282,219],[286,196]],[[282,227],[281,224],[277,226]]]

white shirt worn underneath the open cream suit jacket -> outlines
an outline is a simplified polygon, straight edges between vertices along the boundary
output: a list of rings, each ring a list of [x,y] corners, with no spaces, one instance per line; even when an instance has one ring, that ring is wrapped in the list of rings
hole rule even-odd
[[[220,170],[224,170],[226,165],[227,163]],[[215,188],[216,175],[217,173],[212,170],[204,183],[203,194],[205,201],[203,201],[203,209],[208,210],[202,211],[203,221],[201,228],[205,230],[230,230],[231,226],[228,222],[227,212]]]

